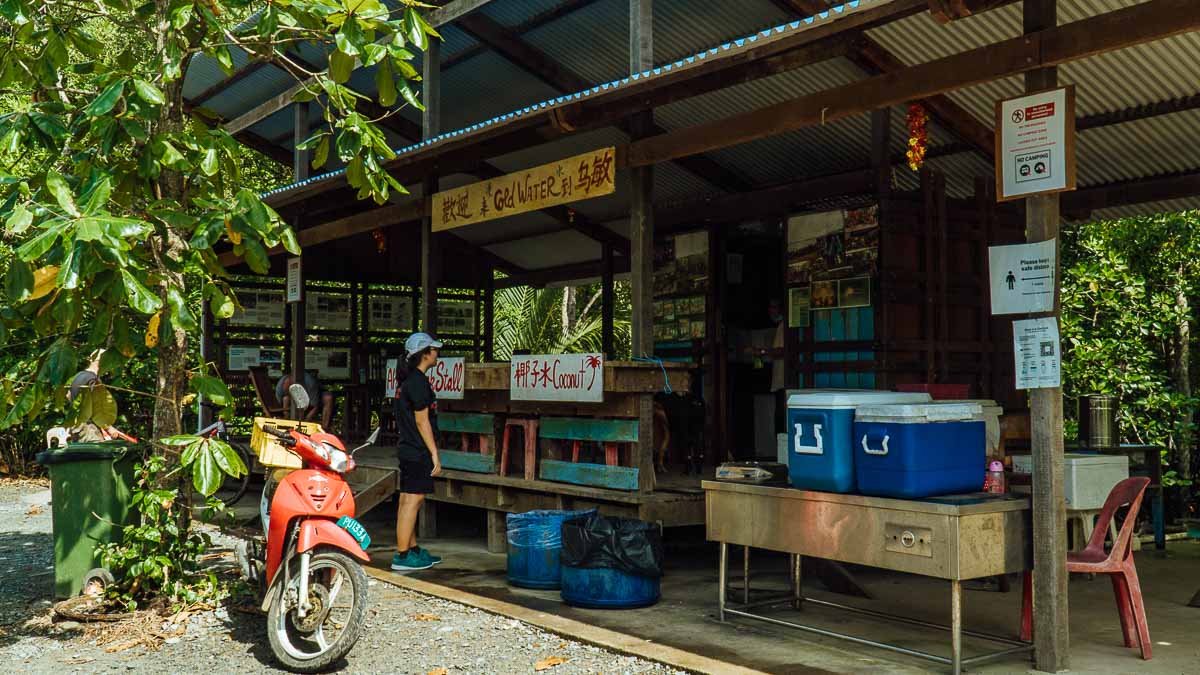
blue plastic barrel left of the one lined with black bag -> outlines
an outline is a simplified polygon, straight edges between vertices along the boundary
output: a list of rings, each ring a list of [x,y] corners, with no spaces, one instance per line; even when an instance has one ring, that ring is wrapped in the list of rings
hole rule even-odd
[[[589,510],[530,510],[510,513],[509,584],[522,589],[558,589],[562,577],[563,522]]]

